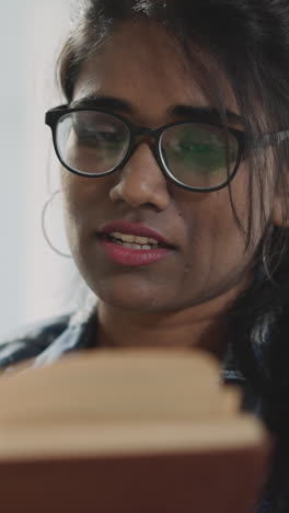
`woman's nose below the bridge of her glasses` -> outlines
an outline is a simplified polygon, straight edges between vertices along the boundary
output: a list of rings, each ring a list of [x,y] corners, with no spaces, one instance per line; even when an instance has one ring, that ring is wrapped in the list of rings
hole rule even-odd
[[[167,181],[147,142],[140,144],[109,191],[113,202],[123,201],[134,208],[150,205],[158,210],[167,208],[171,197]]]

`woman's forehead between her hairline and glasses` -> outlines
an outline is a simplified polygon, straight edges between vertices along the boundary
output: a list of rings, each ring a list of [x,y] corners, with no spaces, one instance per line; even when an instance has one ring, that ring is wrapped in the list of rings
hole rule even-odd
[[[220,79],[227,106],[238,112],[228,83]],[[209,90],[198,66],[165,30],[138,21],[118,26],[83,65],[73,100],[94,94],[119,98],[134,106],[139,121],[151,117],[158,123],[169,105],[211,105]]]

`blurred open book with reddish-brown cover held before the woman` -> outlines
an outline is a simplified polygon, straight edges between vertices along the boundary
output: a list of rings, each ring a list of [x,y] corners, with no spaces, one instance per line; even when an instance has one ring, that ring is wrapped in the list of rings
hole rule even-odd
[[[269,458],[205,353],[97,350],[0,378],[3,513],[253,513]]]

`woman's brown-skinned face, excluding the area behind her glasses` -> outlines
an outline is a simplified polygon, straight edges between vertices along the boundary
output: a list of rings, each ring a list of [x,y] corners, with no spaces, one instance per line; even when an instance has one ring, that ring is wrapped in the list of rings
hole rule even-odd
[[[175,105],[212,106],[197,81],[197,71],[165,32],[153,24],[124,24],[83,66],[73,101],[86,96],[120,100],[126,107],[115,102],[111,112],[154,128],[182,121],[172,114]],[[227,107],[238,113],[230,91]],[[104,303],[139,312],[177,311],[238,289],[246,280],[258,229],[255,243],[245,251],[229,190],[196,193],[177,187],[164,176],[146,141],[120,171],[82,178],[63,169],[62,184],[73,258]],[[245,224],[245,162],[232,181],[231,194]],[[256,202],[254,206],[257,213]],[[256,227],[257,217],[255,214]],[[120,228],[115,221],[120,221]],[[119,263],[107,254],[100,233],[111,225],[108,231],[125,235],[123,221],[150,228],[171,248],[148,264],[143,260],[141,265]]]

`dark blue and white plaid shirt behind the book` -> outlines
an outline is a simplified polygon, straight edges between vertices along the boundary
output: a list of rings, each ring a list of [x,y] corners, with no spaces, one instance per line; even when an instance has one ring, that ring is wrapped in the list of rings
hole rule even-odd
[[[32,367],[49,365],[65,353],[95,349],[97,318],[95,301],[77,314],[54,318],[45,323],[37,323],[21,330],[11,340],[0,344],[0,369],[10,372],[13,366],[25,360]],[[231,347],[228,349],[220,372],[220,380],[224,384],[238,385],[242,388],[244,400],[242,410],[261,417],[261,401],[246,384],[238,368]],[[276,513],[269,501],[264,501],[256,513]]]

